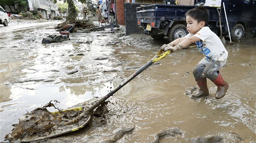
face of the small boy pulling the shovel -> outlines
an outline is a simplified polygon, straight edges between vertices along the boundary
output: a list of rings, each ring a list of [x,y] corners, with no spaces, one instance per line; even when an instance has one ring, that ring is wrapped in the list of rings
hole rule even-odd
[[[190,16],[186,17],[187,30],[190,34],[196,34],[202,27],[204,27],[205,22],[197,22],[197,20],[193,19]]]

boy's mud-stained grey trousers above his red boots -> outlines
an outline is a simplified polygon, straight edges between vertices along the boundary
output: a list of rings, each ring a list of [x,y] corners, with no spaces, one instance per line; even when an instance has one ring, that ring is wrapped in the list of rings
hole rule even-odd
[[[193,69],[195,79],[203,78],[204,76],[210,80],[215,80],[218,77],[217,71],[226,64],[226,61],[207,61],[202,59]],[[204,76],[203,76],[204,74]]]

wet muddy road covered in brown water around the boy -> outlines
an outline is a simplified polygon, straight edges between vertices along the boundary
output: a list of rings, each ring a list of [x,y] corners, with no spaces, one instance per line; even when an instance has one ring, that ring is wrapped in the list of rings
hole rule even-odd
[[[0,26],[0,141],[18,118],[50,100],[67,109],[106,95],[167,43],[138,34],[117,37],[106,29],[41,44],[42,38],[58,34],[46,29],[57,23],[61,21],[34,25],[13,20],[8,27]],[[217,87],[210,80],[210,96],[189,97],[196,87],[191,71],[203,57],[196,48],[182,49],[115,93],[103,123],[46,142],[256,141],[256,42],[252,41],[226,45],[229,57],[221,73],[229,89],[221,100],[215,99]]]

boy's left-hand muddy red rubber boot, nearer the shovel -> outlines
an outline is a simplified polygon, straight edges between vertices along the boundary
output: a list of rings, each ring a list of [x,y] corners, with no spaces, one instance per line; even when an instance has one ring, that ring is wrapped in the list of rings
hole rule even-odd
[[[209,95],[209,90],[207,88],[206,77],[197,79],[195,81],[196,81],[197,85],[200,87],[200,89],[198,90],[198,93],[192,94],[191,98],[192,99],[197,99],[199,97]]]

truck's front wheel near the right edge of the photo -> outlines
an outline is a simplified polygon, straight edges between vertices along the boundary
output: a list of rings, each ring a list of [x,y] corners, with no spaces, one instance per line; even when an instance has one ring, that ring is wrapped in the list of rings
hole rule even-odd
[[[243,35],[245,34],[245,28],[242,24],[236,24],[234,25],[232,31],[230,32],[231,40],[237,42],[241,38],[243,38]]]

